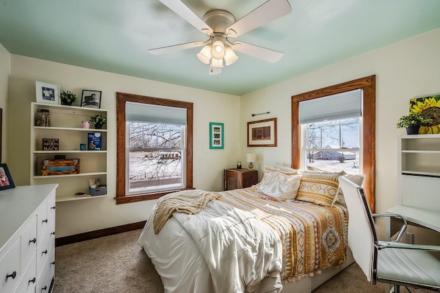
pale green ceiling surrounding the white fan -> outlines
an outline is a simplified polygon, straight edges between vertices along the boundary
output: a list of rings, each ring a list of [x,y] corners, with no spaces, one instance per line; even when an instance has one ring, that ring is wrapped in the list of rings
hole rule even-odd
[[[183,2],[200,18],[223,9],[238,20],[265,0]],[[148,53],[207,39],[158,0],[2,0],[0,44],[12,54],[243,95],[440,27],[439,0],[289,3],[292,13],[232,39],[282,51],[283,58],[272,64],[237,52],[239,60],[219,78],[197,58],[201,48]]]

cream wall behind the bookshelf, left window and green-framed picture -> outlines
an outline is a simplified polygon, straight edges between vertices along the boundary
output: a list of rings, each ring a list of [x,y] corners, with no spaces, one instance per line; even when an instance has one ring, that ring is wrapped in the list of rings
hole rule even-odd
[[[78,96],[83,89],[102,91],[102,108],[109,110],[107,123],[107,198],[58,202],[56,236],[63,237],[146,220],[155,200],[115,204],[116,112],[115,93],[133,93],[194,103],[193,183],[198,189],[223,189],[223,169],[239,159],[240,98],[153,82],[35,58],[11,55],[10,171],[17,185],[30,183],[30,103],[35,102],[35,81],[58,84]],[[213,110],[215,109],[215,110]],[[224,150],[210,150],[209,122],[225,124]]]

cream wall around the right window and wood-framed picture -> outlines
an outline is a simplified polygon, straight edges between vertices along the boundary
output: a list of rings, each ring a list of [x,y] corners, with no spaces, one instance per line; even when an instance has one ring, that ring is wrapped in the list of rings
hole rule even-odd
[[[397,204],[397,137],[404,134],[396,129],[397,119],[408,113],[409,99],[440,93],[439,46],[440,30],[434,30],[241,97],[243,145],[248,121],[278,120],[277,148],[246,151],[259,154],[261,171],[276,162],[290,165],[292,95],[376,75],[376,211],[386,211]],[[270,115],[250,115],[267,111]]]

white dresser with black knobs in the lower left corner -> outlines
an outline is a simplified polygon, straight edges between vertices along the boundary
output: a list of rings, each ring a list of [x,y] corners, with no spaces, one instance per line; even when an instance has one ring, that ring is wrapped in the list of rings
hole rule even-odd
[[[58,184],[0,191],[0,292],[47,293],[55,271]]]

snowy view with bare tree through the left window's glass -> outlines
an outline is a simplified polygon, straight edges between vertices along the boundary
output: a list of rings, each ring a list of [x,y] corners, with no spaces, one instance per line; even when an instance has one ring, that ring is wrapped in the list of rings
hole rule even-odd
[[[184,126],[128,122],[129,193],[183,186]]]

